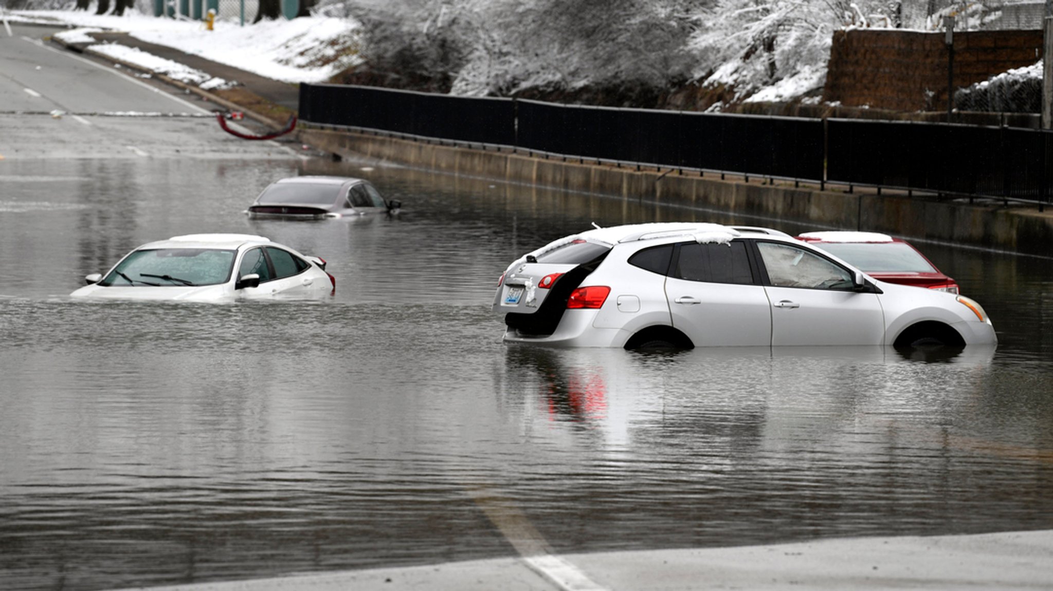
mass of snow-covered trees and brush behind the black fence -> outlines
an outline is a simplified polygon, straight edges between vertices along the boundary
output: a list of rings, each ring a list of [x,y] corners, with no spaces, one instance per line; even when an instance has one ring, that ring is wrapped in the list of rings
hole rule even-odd
[[[834,30],[919,12],[900,0],[332,1],[363,23],[367,66],[344,81],[640,106],[688,87],[728,102],[821,88]]]

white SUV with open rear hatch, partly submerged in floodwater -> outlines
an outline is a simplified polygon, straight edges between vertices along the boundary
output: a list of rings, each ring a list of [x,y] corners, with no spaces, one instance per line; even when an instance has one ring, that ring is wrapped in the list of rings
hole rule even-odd
[[[979,304],[894,285],[771,229],[706,223],[596,228],[509,266],[504,341],[578,347],[973,344]]]

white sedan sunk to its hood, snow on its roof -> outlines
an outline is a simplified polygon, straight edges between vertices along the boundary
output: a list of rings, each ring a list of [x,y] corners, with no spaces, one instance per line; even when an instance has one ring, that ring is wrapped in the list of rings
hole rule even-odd
[[[260,236],[197,233],[151,242],[105,274],[84,278],[74,298],[224,302],[317,299],[336,290],[325,261]]]

